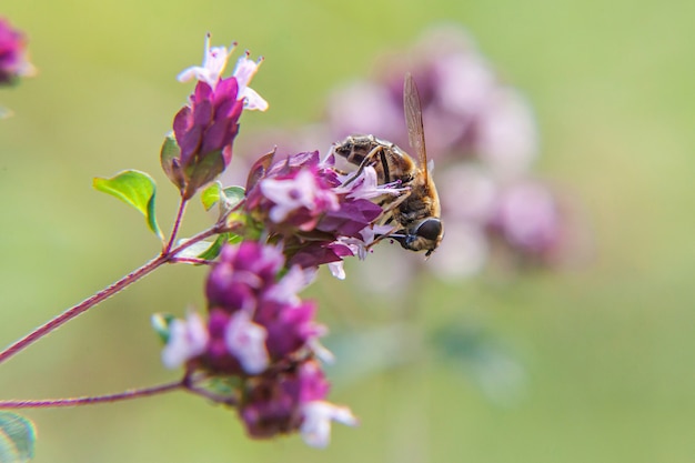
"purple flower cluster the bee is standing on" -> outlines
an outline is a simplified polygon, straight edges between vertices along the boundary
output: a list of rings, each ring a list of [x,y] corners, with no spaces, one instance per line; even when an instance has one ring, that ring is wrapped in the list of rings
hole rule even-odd
[[[403,192],[379,185],[367,167],[346,181],[334,168],[334,157],[320,160],[319,152],[292,154],[252,169],[245,209],[270,235],[281,242],[290,264],[311,269],[329,263],[344,278],[345,256],[364,258],[377,234],[390,228],[377,224],[382,208],[374,202]]]

